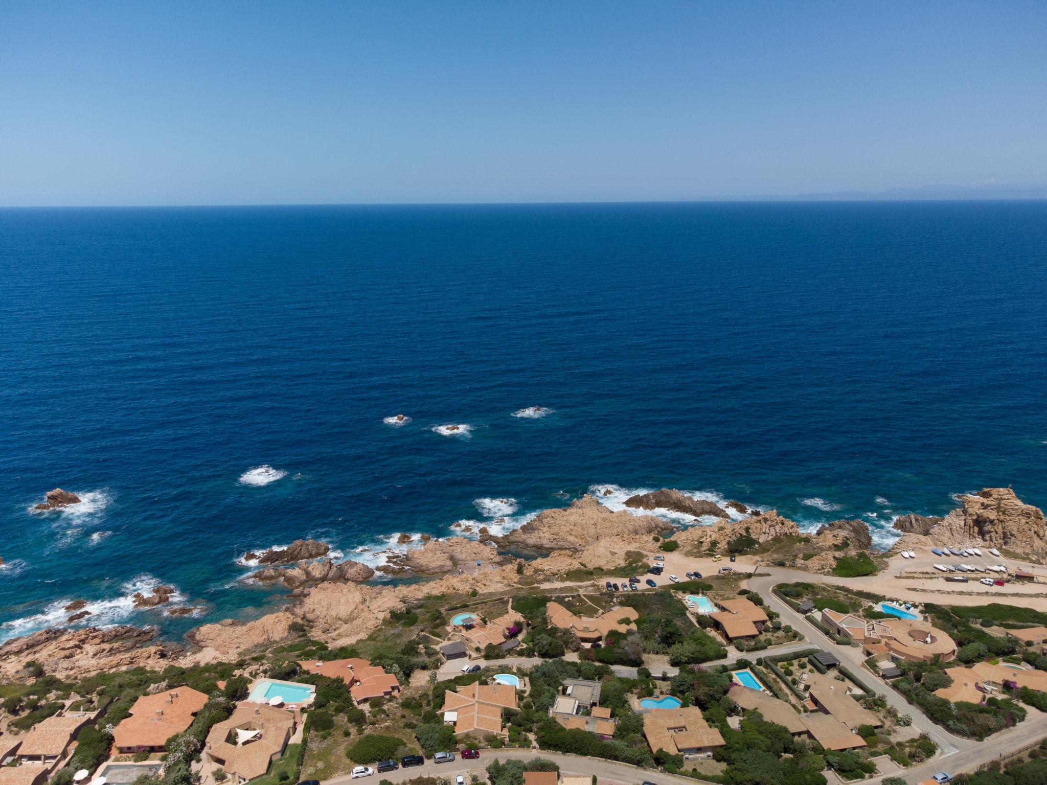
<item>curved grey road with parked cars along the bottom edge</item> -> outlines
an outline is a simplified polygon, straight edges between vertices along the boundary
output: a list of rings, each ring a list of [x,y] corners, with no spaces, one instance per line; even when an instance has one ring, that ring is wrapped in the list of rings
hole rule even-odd
[[[348,776],[336,777],[332,780],[325,780],[324,785],[377,785],[379,779],[389,782],[403,782],[413,780],[416,777],[443,777],[451,778],[455,775],[463,775],[468,782],[469,775],[477,775],[481,779],[487,778],[485,770],[493,760],[509,761],[524,760],[530,761],[535,758],[551,760],[560,767],[560,771],[565,775],[596,775],[601,780],[614,780],[621,783],[653,782],[655,785],[694,785],[696,782],[691,777],[677,777],[676,775],[655,771],[649,768],[630,766],[627,763],[606,761],[602,758],[582,758],[577,755],[563,755],[561,753],[550,753],[535,749],[485,749],[480,754],[480,760],[464,761],[461,756],[456,756],[450,763],[437,765],[430,760],[425,761],[424,766],[411,766],[410,768],[398,768],[396,771],[385,771],[381,775],[362,780],[351,780]]]

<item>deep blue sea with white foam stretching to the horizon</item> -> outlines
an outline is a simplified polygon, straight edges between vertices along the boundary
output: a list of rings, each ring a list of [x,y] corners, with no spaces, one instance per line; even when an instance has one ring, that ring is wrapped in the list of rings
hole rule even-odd
[[[1047,202],[0,210],[0,638],[77,598],[177,637],[279,602],[249,547],[376,563],[593,486],[886,546],[1047,506],[1045,404]],[[132,612],[156,581],[206,613]]]

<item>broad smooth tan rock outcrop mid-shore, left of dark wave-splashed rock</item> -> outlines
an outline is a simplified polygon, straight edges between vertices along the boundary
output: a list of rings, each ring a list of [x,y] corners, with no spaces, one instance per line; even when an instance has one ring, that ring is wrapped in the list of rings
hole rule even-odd
[[[671,531],[672,525],[661,518],[611,512],[586,494],[571,507],[544,510],[515,532],[493,539],[503,547],[581,551],[603,539]]]

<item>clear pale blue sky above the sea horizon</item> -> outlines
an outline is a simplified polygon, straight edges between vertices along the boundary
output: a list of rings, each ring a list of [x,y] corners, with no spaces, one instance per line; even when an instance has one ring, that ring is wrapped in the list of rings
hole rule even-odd
[[[1047,184],[1044,2],[0,3],[0,205]]]

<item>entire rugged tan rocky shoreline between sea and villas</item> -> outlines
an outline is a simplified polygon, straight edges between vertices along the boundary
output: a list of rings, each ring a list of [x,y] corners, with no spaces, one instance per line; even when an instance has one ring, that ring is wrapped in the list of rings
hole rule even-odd
[[[1012,490],[987,488],[960,497],[959,502],[959,508],[943,517],[899,517],[894,525],[901,538],[888,555],[963,541],[1047,557],[1043,512],[1022,502]],[[289,590],[287,604],[279,611],[246,623],[224,620],[199,626],[185,637],[188,648],[157,642],[156,630],[150,627],[50,628],[0,646],[0,677],[18,678],[30,660],[41,664],[47,673],[70,678],[136,666],[220,661],[283,641],[296,626],[331,646],[349,645],[371,634],[391,611],[402,610],[420,598],[503,591],[555,580],[579,567],[620,567],[643,559],[655,542],[666,539],[689,554],[711,554],[741,542],[761,558],[777,558],[772,554],[796,546],[804,553],[802,562],[795,560],[794,566],[812,573],[830,571],[841,556],[869,553],[872,546],[869,528],[856,519],[833,520],[814,533],[803,532],[796,521],[775,510],[749,510],[736,501],[720,507],[672,489],[632,496],[626,506],[713,516],[716,522],[680,529],[654,515],[612,511],[584,495],[569,507],[545,510],[502,536],[483,532],[478,539],[420,537],[416,547],[389,552],[387,564],[379,571],[387,577],[426,579],[415,583],[369,583],[376,576],[371,566],[335,561],[327,543],[295,540],[289,546],[244,557],[266,565],[252,573],[251,580],[279,582]],[[728,510],[744,517],[732,516]],[[398,544],[415,542],[409,535],[398,540]],[[520,551],[537,558],[525,560],[512,555]],[[158,585],[148,595],[136,593],[133,602],[135,607],[156,608],[169,604],[174,596],[173,587]],[[66,605],[68,622],[85,618],[86,606],[84,600]],[[181,608],[169,609],[169,613],[174,610]],[[195,610],[184,608],[185,613]]]

